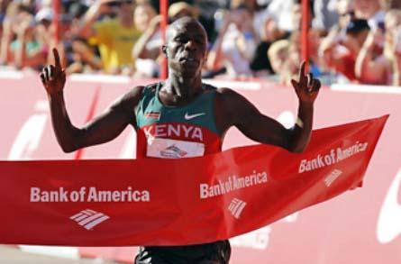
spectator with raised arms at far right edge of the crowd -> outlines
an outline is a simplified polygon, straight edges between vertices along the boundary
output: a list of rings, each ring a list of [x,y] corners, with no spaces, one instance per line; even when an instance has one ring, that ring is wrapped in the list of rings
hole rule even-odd
[[[400,11],[392,10],[386,15],[385,32],[381,29],[369,32],[369,36],[360,50],[355,67],[356,75],[360,77],[361,82],[373,85],[399,83],[398,62],[400,54],[396,46],[400,22]],[[383,34],[386,36],[386,49],[382,54],[376,54],[376,40],[382,38]]]

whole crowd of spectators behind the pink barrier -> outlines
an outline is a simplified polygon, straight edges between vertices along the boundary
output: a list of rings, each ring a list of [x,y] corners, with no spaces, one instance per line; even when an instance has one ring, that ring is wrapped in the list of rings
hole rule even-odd
[[[59,0],[58,30],[52,2],[0,0],[2,68],[40,70],[57,45],[68,73],[159,77],[159,1]],[[192,16],[204,25],[209,40],[204,77],[288,84],[301,60],[300,2],[169,1],[169,23]],[[314,0],[310,7],[315,77],[399,86],[401,0]]]

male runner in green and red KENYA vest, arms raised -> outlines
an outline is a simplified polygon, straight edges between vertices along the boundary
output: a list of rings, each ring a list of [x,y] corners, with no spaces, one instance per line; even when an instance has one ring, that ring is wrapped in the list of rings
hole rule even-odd
[[[41,81],[49,96],[53,128],[61,148],[74,151],[117,137],[129,124],[138,133],[141,158],[196,157],[219,152],[225,132],[237,127],[254,141],[280,146],[289,151],[305,149],[312,130],[314,100],[320,82],[305,75],[292,84],[299,99],[298,118],[291,129],[260,114],[243,96],[229,88],[202,83],[206,57],[206,32],[192,18],[181,18],[169,26],[163,53],[168,59],[169,77],[150,86],[136,86],[118,99],[104,114],[78,129],[70,122],[64,103],[66,74],[53,50],[55,65],[43,68]],[[156,146],[167,146],[159,150]],[[185,162],[185,161],[183,161]],[[190,246],[142,247],[135,263],[228,263],[228,241]]]

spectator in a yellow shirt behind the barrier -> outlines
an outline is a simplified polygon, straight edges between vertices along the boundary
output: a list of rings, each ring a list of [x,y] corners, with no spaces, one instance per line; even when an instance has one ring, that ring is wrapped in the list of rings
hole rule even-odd
[[[97,21],[105,14],[116,17]],[[92,37],[98,45],[105,72],[132,72],[132,47],[141,35],[133,23],[132,0],[96,0],[87,10],[79,33]]]

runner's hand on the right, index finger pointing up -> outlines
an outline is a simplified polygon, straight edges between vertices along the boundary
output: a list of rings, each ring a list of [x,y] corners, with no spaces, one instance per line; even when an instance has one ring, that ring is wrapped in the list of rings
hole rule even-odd
[[[312,73],[305,74],[306,62],[303,61],[299,69],[298,81],[291,79],[291,84],[296,90],[296,96],[303,103],[314,103],[321,83],[318,79],[314,78]]]

